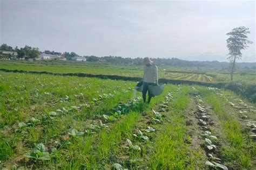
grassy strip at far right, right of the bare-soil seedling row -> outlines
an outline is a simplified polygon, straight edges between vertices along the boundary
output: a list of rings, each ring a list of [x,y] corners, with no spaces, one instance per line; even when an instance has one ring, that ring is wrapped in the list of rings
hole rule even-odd
[[[220,90],[203,87],[198,87],[198,89],[219,119],[220,138],[225,141],[220,146],[219,157],[221,161],[228,168],[251,168],[254,164],[256,153],[253,141],[255,136],[252,134],[253,128],[247,130],[247,125],[244,123],[247,122],[245,120],[246,117],[244,117],[245,119],[239,118],[245,116],[244,112],[240,114],[235,111],[233,108],[237,109],[237,107],[232,102],[229,102],[225,95],[220,93]],[[246,105],[242,101],[239,102]],[[247,109],[252,109],[248,105],[246,107]],[[255,116],[253,119],[255,119]],[[253,125],[249,123],[248,126],[251,128]]]

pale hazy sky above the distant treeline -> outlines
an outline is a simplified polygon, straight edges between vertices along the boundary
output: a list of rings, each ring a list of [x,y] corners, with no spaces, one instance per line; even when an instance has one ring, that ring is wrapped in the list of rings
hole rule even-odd
[[[250,28],[243,51],[256,62],[255,1],[0,0],[0,44],[79,55],[227,61],[226,33]]]

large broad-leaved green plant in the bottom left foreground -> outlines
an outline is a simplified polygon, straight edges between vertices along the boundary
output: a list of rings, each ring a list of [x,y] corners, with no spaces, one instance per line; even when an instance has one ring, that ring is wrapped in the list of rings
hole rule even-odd
[[[50,154],[45,152],[45,146],[42,143],[36,145],[33,151],[25,153],[24,157],[36,160],[50,160]]]

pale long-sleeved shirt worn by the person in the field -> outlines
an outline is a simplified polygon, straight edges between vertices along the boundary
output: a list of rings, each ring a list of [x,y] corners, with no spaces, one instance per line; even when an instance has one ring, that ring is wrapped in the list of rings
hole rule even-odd
[[[144,67],[143,81],[147,83],[158,83],[158,68],[156,65]]]

